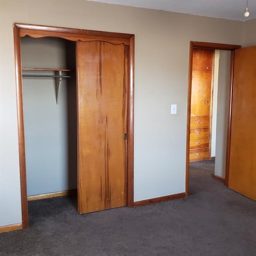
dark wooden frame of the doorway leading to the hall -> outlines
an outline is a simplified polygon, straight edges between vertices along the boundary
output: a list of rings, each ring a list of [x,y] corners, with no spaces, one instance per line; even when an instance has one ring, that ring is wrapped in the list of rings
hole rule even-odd
[[[187,136],[186,136],[186,188],[185,193],[188,196],[189,190],[189,140],[190,140],[190,108],[191,108],[191,87],[192,87],[192,59],[193,49],[203,48],[212,50],[230,51],[230,82],[229,82],[229,99],[228,99],[228,129],[227,129],[227,146],[226,146],[226,170],[225,184],[228,186],[229,156],[230,156],[230,131],[232,116],[232,92],[233,92],[233,76],[234,76],[234,51],[241,48],[240,45],[234,44],[217,44],[208,42],[190,41],[189,50],[189,68],[188,68],[188,108],[187,108]]]

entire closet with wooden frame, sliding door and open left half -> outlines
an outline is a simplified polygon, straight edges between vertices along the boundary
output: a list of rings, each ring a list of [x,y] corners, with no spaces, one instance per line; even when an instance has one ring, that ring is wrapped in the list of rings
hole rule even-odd
[[[14,56],[22,227],[44,197],[133,207],[134,35],[15,23]]]

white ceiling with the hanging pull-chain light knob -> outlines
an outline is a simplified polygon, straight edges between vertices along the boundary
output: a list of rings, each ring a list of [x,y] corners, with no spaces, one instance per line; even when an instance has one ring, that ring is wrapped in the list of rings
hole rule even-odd
[[[244,17],[246,0],[88,0],[109,4],[181,12],[213,18],[246,21],[256,18],[256,0],[248,0],[249,17]]]

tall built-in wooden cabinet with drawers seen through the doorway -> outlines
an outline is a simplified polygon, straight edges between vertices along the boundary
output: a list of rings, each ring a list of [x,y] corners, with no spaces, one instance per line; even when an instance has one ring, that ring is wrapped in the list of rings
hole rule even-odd
[[[194,49],[190,112],[190,162],[210,159],[213,50]]]

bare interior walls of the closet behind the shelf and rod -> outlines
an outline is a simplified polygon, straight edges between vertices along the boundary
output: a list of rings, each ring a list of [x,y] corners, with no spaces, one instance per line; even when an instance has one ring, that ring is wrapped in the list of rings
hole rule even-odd
[[[21,38],[22,68],[70,69],[62,78],[56,103],[56,79],[23,77],[27,194],[77,188],[75,42],[60,38]],[[30,71],[23,74],[49,74]]]

